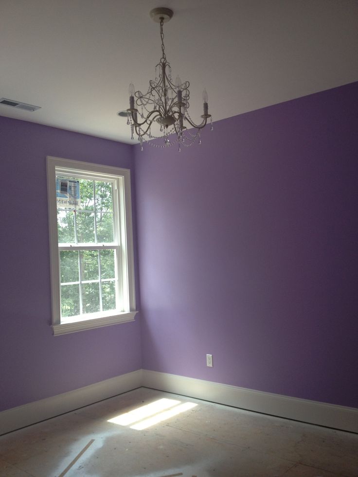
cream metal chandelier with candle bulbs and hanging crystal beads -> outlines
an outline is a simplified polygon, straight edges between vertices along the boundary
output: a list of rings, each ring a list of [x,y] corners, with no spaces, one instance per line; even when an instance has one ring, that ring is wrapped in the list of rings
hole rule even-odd
[[[160,24],[161,30],[161,59],[155,68],[155,79],[149,81],[146,93],[136,91],[133,83],[129,85],[129,108],[127,124],[130,126],[131,139],[138,138],[143,151],[143,141],[153,147],[169,147],[178,144],[191,146],[195,142],[201,144],[200,131],[210,118],[211,130],[213,120],[208,113],[208,93],[203,91],[203,114],[200,124],[195,124],[189,116],[189,81],[182,82],[177,76],[175,83],[172,79],[170,64],[164,52],[163,23],[173,17],[169,8],[154,8],[150,11],[151,18]],[[139,112],[139,109],[141,112]],[[188,124],[188,127],[185,126]],[[190,126],[196,129],[193,133]],[[174,139],[169,139],[174,134]],[[135,138],[136,136],[136,138]],[[152,139],[162,139],[162,144]]]

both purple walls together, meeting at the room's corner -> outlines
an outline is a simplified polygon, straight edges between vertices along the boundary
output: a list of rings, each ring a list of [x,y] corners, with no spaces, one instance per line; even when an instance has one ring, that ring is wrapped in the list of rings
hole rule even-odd
[[[358,406],[357,100],[354,83],[253,111],[181,153],[0,117],[0,410],[142,359]],[[52,335],[48,155],[132,170],[142,356],[139,318]]]

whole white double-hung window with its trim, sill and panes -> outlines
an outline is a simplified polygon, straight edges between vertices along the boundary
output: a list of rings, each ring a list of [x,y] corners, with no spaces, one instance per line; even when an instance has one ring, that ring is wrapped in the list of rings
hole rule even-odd
[[[47,158],[54,335],[135,317],[130,174]]]

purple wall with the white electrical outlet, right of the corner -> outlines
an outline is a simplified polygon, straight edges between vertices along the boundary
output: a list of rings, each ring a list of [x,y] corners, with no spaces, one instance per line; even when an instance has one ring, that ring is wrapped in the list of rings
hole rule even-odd
[[[144,369],[358,406],[357,104],[353,83],[135,146]]]

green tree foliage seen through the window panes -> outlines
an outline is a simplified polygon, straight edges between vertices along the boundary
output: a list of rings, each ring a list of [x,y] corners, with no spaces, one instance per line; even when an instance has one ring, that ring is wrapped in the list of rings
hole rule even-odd
[[[80,182],[81,209],[57,209],[59,244],[112,243],[112,184],[71,178]],[[101,295],[104,311],[116,308],[114,250],[61,250],[60,278],[62,317],[79,315],[81,301],[83,313],[100,311]]]

